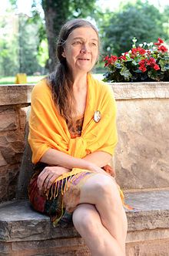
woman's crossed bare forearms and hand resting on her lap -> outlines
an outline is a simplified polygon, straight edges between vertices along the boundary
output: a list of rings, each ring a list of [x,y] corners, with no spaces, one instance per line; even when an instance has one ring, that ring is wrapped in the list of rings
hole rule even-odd
[[[106,165],[110,159],[111,155],[103,151],[91,153],[87,157],[84,157],[84,159],[81,159],[71,157],[58,150],[47,150],[43,157],[41,157],[41,162],[48,163],[51,167],[45,167],[39,174],[37,181],[38,188],[40,191],[43,189],[47,190],[57,177],[70,171],[72,168],[81,168],[96,173],[104,173],[104,170],[101,170],[100,167]]]

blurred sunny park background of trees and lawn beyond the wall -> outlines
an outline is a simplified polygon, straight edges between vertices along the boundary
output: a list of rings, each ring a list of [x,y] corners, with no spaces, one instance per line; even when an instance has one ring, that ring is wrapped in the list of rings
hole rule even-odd
[[[58,32],[67,20],[88,19],[101,37],[94,73],[104,72],[105,55],[121,55],[132,39],[169,45],[169,0],[3,0],[0,8],[0,84],[26,73],[35,83],[55,69]]]

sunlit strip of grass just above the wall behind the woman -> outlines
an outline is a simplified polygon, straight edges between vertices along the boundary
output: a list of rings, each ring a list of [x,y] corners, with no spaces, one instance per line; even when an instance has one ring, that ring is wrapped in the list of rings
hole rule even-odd
[[[103,79],[103,74],[93,74],[95,78]],[[44,76],[27,76],[27,83],[38,83]],[[0,85],[15,84],[15,76],[0,77]]]

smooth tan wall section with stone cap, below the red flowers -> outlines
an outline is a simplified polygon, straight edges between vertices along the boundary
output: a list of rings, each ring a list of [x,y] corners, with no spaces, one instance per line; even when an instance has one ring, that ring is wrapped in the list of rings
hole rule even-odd
[[[126,190],[169,187],[169,83],[111,87],[118,106],[118,184]]]

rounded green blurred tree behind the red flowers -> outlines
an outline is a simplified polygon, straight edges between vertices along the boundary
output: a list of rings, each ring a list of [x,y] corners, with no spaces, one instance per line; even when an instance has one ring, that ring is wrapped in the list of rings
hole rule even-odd
[[[135,37],[139,42],[153,42],[166,38],[163,15],[148,2],[136,1],[121,6],[120,12],[111,13],[108,25],[102,25],[104,52],[120,55],[131,48]]]

